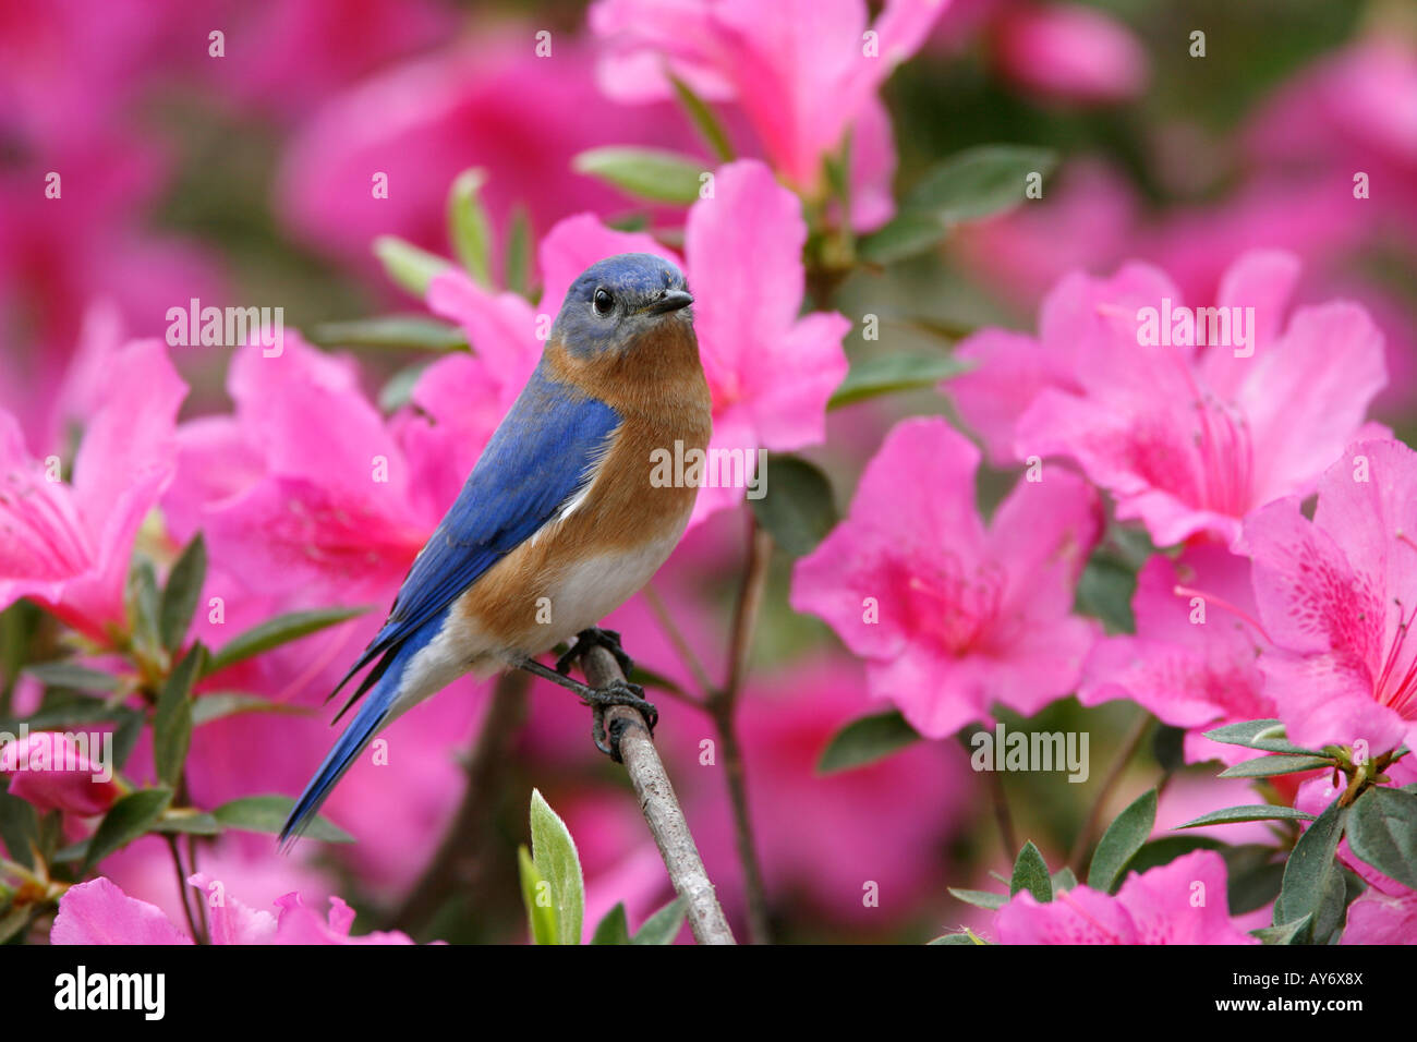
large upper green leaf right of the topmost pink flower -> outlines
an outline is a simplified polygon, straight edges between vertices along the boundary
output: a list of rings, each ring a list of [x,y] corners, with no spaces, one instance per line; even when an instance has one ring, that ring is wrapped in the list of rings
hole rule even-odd
[[[1029,174],[1047,177],[1056,164],[1050,149],[981,145],[932,167],[904,208],[932,213],[945,225],[992,217],[1024,203]]]

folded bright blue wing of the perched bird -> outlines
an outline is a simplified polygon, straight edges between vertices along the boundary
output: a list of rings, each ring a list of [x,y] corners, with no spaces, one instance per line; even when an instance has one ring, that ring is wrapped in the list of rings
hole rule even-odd
[[[619,422],[619,414],[605,403],[548,380],[540,369],[531,374],[414,560],[384,628],[334,689],[337,693],[354,673],[383,658],[341,716],[378,680],[411,634],[575,496]]]

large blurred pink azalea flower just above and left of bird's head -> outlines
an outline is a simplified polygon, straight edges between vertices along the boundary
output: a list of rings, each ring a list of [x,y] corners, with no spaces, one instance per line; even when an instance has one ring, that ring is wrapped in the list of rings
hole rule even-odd
[[[597,101],[594,116],[584,115],[595,94],[591,50],[558,33],[551,57],[538,58],[537,30],[483,27],[330,98],[281,164],[285,221],[374,272],[376,235],[448,252],[448,186],[469,167],[487,174],[479,198],[504,241],[519,204],[538,235],[568,214],[623,207],[616,190],[571,169],[580,152],[606,143],[694,150],[693,130],[670,102],[646,111]],[[374,196],[376,173],[388,176],[387,197]]]

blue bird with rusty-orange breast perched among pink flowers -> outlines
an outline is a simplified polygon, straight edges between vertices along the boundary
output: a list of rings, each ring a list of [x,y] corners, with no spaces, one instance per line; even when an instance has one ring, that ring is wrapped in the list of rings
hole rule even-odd
[[[541,357],[448,513],[418,551],[388,618],[330,693],[366,666],[339,719],[359,710],[295,801],[288,848],[376,734],[473,673],[524,669],[595,707],[655,707],[639,685],[595,689],[567,676],[589,644],[629,672],[619,635],[598,622],[659,570],[683,536],[697,488],[652,479],[656,451],[704,451],[708,384],[683,272],[653,254],[618,254],[571,284]],[[555,668],[538,655],[571,644]],[[329,700],[329,699],[326,699]],[[616,739],[618,741],[618,739]]]

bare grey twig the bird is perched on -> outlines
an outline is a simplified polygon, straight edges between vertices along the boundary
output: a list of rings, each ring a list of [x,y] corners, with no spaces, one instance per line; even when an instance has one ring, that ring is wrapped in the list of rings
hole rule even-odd
[[[592,688],[604,688],[612,680],[623,680],[615,656],[605,648],[589,646],[581,655],[581,669]],[[611,706],[605,712],[605,729],[619,734],[621,758],[629,774],[645,822],[665,859],[674,892],[683,897],[689,913],[689,927],[700,944],[734,944],[728,920],[714,896],[713,883],[704,872],[699,848],[689,832],[689,822],[669,784],[665,764],[655,749],[645,717],[629,706]]]

